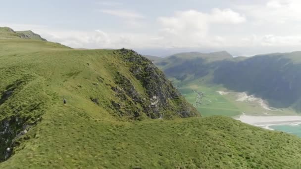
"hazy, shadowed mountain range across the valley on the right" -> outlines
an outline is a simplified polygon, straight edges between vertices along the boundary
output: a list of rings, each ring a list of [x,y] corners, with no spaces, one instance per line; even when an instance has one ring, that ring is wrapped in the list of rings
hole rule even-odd
[[[227,52],[181,53],[156,63],[182,83],[206,80],[268,100],[276,108],[301,111],[301,52],[233,58]]]

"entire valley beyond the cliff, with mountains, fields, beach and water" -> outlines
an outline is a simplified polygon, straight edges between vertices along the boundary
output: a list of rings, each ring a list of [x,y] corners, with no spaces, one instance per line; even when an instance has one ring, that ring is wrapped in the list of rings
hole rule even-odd
[[[301,117],[298,54],[232,57],[225,51],[188,52],[151,59],[202,116],[228,116],[253,126],[300,136],[301,130],[296,129],[300,127],[297,119]],[[294,79],[290,80],[292,69]],[[289,100],[294,97],[295,103],[283,101],[286,97]],[[266,120],[262,122],[260,118]]]

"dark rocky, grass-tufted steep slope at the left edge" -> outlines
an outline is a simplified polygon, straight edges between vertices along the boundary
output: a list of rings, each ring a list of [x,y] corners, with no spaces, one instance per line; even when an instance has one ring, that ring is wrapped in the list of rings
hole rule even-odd
[[[0,92],[0,162],[13,154],[14,147],[19,144],[19,138],[42,120],[41,116],[45,111],[47,100],[34,101],[35,98],[30,96],[24,100],[19,98],[18,94],[23,91],[28,81],[32,80],[32,77],[26,78],[8,84],[4,91]],[[34,96],[38,97],[38,94]]]

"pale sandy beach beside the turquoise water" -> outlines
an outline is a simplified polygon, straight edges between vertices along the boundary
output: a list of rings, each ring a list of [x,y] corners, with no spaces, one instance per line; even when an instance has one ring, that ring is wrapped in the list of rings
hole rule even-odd
[[[241,115],[236,118],[243,123],[247,123],[253,126],[271,129],[270,126],[276,125],[290,125],[297,126],[301,124],[301,116],[248,116]]]

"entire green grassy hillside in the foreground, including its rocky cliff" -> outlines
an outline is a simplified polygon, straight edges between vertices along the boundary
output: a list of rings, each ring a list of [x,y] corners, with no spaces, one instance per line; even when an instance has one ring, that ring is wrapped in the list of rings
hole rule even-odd
[[[1,39],[0,60],[1,169],[301,166],[299,138],[198,117],[132,50]]]

